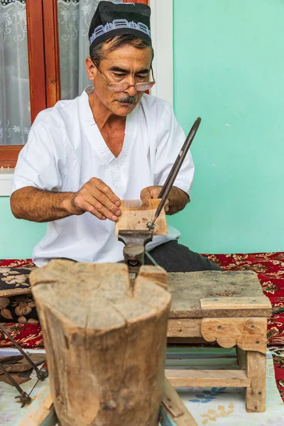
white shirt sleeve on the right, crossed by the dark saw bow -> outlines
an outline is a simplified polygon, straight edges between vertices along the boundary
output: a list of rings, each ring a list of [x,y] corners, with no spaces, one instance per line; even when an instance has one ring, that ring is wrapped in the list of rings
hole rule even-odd
[[[165,183],[183,143],[185,143],[185,133],[175,119],[173,108],[166,104],[160,116],[160,131],[155,153],[155,185],[162,186]],[[195,165],[188,151],[173,185],[190,195],[194,173]]]

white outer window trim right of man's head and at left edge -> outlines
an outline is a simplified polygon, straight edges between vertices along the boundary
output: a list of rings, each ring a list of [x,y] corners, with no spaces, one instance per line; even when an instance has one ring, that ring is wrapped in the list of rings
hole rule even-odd
[[[156,83],[151,94],[173,106],[173,0],[150,0]],[[11,194],[13,169],[0,169],[0,197]]]

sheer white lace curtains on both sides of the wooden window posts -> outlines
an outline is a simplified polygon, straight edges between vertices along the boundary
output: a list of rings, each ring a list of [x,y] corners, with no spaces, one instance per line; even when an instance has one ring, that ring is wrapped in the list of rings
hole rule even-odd
[[[89,85],[84,60],[98,3],[58,0],[61,99],[73,99]],[[29,90],[26,0],[0,0],[0,145],[26,143],[31,127]]]

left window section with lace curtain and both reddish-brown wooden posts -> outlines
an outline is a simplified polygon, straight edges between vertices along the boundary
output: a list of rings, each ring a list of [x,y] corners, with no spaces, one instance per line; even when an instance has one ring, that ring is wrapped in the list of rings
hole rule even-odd
[[[1,168],[16,165],[33,119],[58,99],[56,11],[55,0],[0,0]]]

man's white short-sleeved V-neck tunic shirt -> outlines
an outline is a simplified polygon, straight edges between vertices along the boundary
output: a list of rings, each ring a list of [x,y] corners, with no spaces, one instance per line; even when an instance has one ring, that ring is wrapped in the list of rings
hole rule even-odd
[[[38,114],[18,157],[12,192],[26,186],[77,192],[95,177],[109,185],[121,200],[138,200],[143,188],[163,185],[185,141],[170,105],[143,95],[126,118],[124,145],[116,158],[94,121],[90,91],[92,87],[80,97],[60,101]],[[174,185],[189,193],[193,175],[192,156],[188,153]],[[155,236],[147,249],[179,236],[179,231],[168,226],[168,236]],[[60,257],[116,262],[123,259],[123,247],[114,236],[114,222],[86,212],[48,222],[45,236],[33,250],[33,261],[37,266]]]

